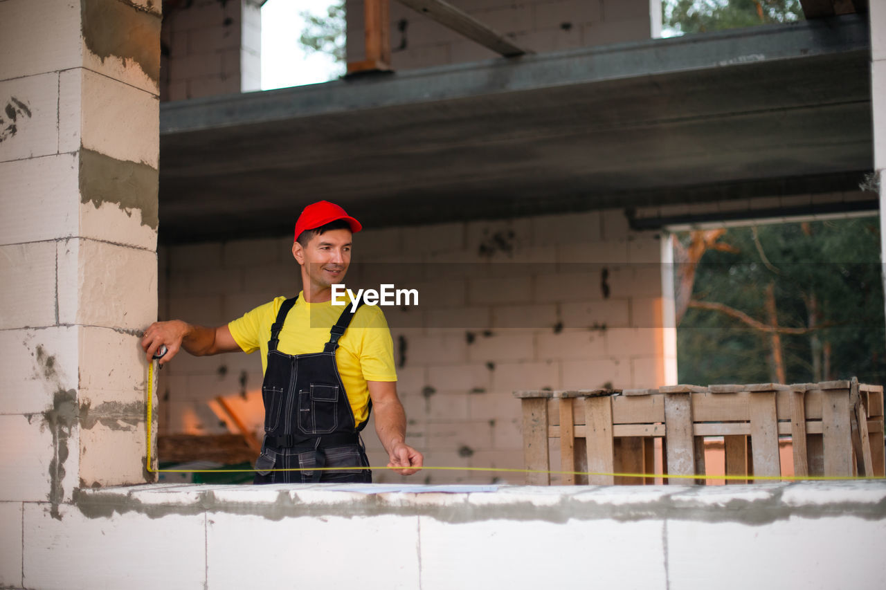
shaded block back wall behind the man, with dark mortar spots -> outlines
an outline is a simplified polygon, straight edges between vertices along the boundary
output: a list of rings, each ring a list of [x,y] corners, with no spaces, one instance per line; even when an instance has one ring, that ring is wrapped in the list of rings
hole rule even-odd
[[[506,237],[510,252],[490,250],[496,236]],[[169,318],[219,325],[300,289],[289,236],[163,250],[168,268],[160,307]],[[417,310],[385,310],[409,442],[429,465],[493,467],[483,463],[486,457],[519,467],[514,390],[665,384],[666,365],[675,359],[664,360],[661,252],[657,234],[631,231],[620,210],[361,232],[349,282],[374,286],[394,274],[408,281],[398,287],[419,291]],[[228,427],[212,400],[257,395],[260,359],[182,356],[160,380],[160,391],[169,394],[162,431],[220,433]],[[259,420],[252,423],[260,429]],[[385,465],[371,424],[364,439],[372,464]],[[392,478],[377,471],[377,481]],[[494,472],[420,476],[431,483],[495,478],[522,481]]]

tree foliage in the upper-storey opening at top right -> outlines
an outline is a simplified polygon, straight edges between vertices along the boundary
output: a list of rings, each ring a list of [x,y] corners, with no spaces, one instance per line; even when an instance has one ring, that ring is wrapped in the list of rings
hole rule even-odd
[[[662,25],[677,34],[803,20],[799,0],[664,0]]]

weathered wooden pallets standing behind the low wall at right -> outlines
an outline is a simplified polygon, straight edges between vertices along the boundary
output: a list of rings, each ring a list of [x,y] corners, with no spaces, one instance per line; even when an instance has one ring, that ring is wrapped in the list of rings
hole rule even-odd
[[[656,473],[670,484],[703,475],[704,440],[722,437],[726,474],[780,477],[789,437],[795,476],[883,477],[883,389],[853,378],[818,384],[672,385],[644,390],[520,391],[526,483],[550,485],[548,439],[560,470]],[[563,475],[564,484],[652,484],[650,477]],[[697,483],[703,483],[703,480]],[[744,483],[729,480],[729,483]]]

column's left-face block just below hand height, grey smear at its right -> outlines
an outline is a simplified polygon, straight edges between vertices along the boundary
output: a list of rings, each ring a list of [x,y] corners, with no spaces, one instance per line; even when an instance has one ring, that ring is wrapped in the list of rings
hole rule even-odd
[[[77,387],[77,331],[0,331],[0,414],[39,414]]]

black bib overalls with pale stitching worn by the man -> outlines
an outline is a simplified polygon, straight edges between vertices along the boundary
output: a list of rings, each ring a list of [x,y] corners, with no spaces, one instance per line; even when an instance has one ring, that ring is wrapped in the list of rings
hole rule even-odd
[[[338,338],[354,317],[351,306],[330,330],[322,353],[286,354],[276,349],[286,314],[296,298],[286,299],[271,326],[268,368],[261,384],[265,403],[265,439],[255,462],[256,484],[372,481],[360,439],[366,425],[354,423],[345,385],[338,374]],[[359,306],[358,306],[359,307]],[[372,403],[369,402],[369,410]],[[315,470],[315,467],[354,467]],[[305,471],[277,471],[307,469]]]

